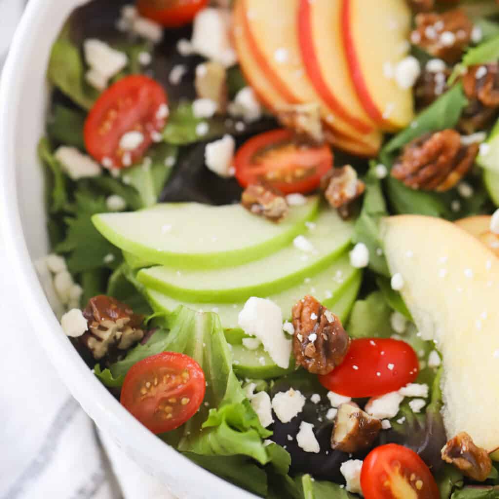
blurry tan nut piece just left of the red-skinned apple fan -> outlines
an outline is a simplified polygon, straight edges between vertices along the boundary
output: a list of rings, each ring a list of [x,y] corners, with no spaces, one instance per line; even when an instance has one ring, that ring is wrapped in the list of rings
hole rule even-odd
[[[223,64],[208,61],[196,68],[194,86],[198,97],[211,99],[217,103],[217,112],[227,109],[229,91],[227,87],[227,70]]]

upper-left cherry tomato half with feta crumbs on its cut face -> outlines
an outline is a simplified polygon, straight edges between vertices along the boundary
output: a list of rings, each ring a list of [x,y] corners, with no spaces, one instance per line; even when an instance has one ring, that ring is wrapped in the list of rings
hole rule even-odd
[[[127,76],[105,90],[90,110],[85,147],[106,168],[131,166],[163,130],[167,117],[168,99],[161,85],[147,76]],[[127,132],[140,132],[142,140],[124,149],[120,141]]]

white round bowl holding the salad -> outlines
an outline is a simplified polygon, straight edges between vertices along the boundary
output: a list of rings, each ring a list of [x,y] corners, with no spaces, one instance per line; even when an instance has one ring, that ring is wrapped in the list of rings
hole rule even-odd
[[[105,1],[105,0],[103,0]],[[32,261],[46,254],[42,167],[36,145],[48,105],[45,70],[52,42],[82,0],[31,0],[16,31],[0,87],[0,221],[8,262],[31,330],[61,379],[97,426],[144,471],[181,499],[250,499],[198,467],[139,424],[93,376],[52,313]]]

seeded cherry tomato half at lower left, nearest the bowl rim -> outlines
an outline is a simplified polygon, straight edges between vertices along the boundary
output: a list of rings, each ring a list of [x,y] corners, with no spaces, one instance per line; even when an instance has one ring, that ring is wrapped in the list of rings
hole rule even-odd
[[[162,352],[134,364],[121,404],[153,433],[175,430],[192,418],[205,396],[205,374],[188,355]]]

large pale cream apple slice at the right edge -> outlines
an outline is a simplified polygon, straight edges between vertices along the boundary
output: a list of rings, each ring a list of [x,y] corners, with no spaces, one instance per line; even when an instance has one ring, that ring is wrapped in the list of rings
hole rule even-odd
[[[443,355],[448,437],[499,448],[499,259],[455,224],[397,216],[381,226],[392,274],[424,339]]]

